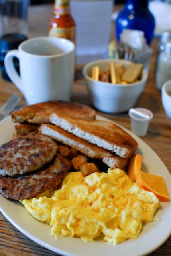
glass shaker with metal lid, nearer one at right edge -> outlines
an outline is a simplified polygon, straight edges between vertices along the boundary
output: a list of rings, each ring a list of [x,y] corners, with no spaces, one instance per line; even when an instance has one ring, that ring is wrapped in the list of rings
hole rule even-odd
[[[162,85],[171,79],[171,41],[165,44],[165,49],[159,54],[155,75],[156,88],[161,90]]]

